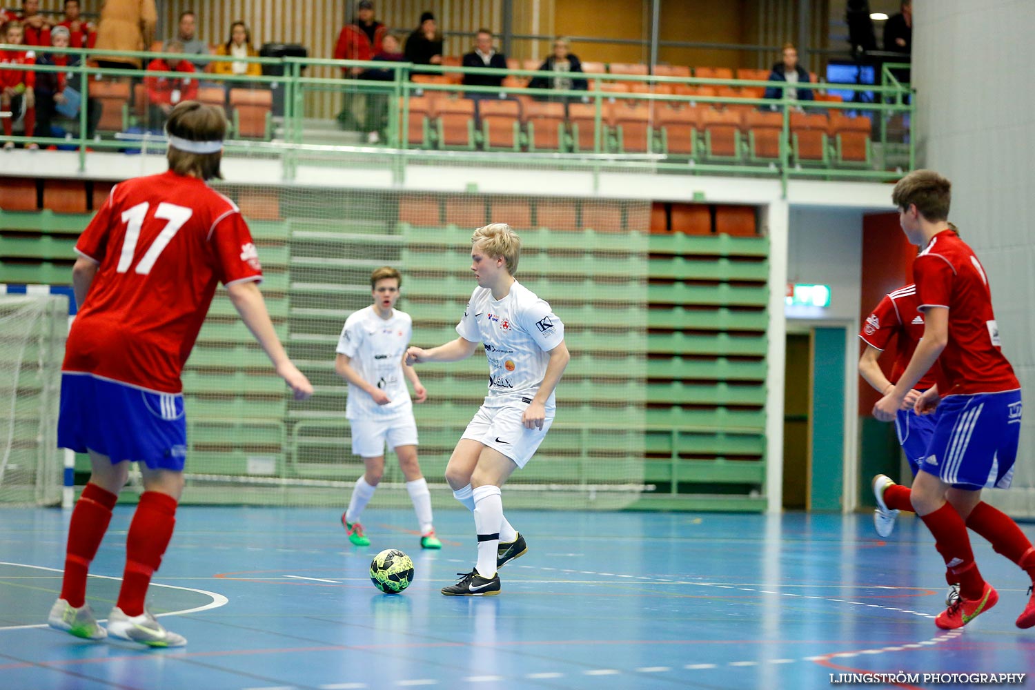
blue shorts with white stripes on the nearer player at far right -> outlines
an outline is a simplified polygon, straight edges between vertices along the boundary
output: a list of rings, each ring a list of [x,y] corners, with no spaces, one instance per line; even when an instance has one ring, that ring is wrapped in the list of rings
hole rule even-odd
[[[1009,488],[1021,440],[1021,391],[949,395],[920,469],[959,488]]]

